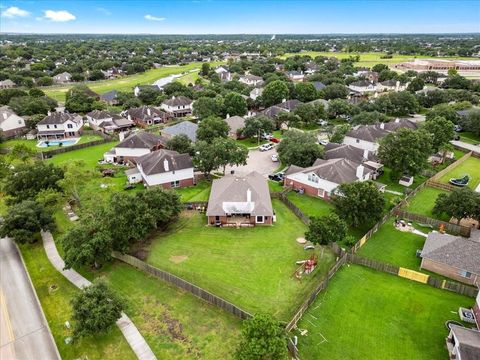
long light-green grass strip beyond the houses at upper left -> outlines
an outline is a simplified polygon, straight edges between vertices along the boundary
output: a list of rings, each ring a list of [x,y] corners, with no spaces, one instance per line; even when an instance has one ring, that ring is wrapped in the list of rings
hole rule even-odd
[[[216,66],[221,63],[222,62],[212,62],[210,65]],[[102,94],[110,90],[132,91],[136,85],[151,84],[158,79],[170,75],[181,74],[193,69],[199,69],[201,66],[201,62],[193,62],[183,66],[165,66],[159,69],[150,69],[140,74],[124,76],[118,79],[86,82],[85,84],[98,94]],[[66,92],[74,85],[75,84],[55,85],[44,87],[42,90],[45,92],[45,94],[47,94],[47,96],[50,96],[57,101],[64,102]]]

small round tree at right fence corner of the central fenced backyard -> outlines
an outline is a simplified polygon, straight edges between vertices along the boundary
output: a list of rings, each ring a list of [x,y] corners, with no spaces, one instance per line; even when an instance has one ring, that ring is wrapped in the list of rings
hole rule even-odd
[[[336,214],[312,217],[305,239],[318,245],[328,245],[341,242],[347,236],[347,223]]]

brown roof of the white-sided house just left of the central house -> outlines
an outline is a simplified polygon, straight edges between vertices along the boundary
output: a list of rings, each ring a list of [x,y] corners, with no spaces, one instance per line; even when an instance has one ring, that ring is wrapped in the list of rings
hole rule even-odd
[[[136,160],[136,163],[145,175],[162,174],[193,167],[190,155],[165,149],[143,155]]]

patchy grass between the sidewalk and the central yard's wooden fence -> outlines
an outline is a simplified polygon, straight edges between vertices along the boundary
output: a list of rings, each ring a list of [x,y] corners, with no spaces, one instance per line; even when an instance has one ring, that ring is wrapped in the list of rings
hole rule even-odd
[[[225,359],[234,351],[237,317],[121,262],[99,276],[127,300],[126,313],[158,359]]]

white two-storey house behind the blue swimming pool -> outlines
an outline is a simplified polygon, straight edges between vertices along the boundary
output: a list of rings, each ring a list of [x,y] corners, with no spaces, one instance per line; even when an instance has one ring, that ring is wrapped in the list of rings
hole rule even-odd
[[[48,140],[78,137],[82,126],[83,119],[78,114],[50,113],[37,124],[37,138]]]

